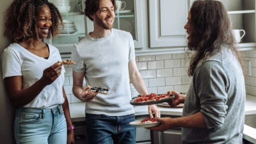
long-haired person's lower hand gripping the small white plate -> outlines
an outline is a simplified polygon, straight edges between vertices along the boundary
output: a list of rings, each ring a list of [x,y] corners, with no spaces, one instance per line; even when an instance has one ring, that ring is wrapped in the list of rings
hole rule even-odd
[[[171,127],[173,127],[173,120],[170,117],[155,117],[156,121],[160,122],[159,125],[153,126],[153,127],[147,127],[147,129],[150,130],[156,130],[156,131],[164,131]]]

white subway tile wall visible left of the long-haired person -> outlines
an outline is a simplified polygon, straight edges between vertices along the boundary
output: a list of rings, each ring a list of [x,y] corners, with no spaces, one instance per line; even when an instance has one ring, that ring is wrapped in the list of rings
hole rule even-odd
[[[187,76],[187,54],[162,54],[136,56],[139,72],[144,79],[148,92],[166,93],[170,89],[187,92],[192,77]],[[65,67],[64,88],[69,103],[80,102],[72,94],[72,67]],[[85,80],[84,80],[85,81]],[[94,86],[94,85],[91,85]],[[132,96],[138,93],[130,84]]]

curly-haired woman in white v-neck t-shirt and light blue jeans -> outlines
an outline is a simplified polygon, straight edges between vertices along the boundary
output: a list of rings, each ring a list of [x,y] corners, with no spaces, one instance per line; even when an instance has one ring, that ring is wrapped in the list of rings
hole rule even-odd
[[[4,35],[13,43],[2,53],[2,77],[16,108],[16,143],[74,143],[61,57],[42,41],[58,34],[58,9],[47,0],[14,0],[6,13]]]

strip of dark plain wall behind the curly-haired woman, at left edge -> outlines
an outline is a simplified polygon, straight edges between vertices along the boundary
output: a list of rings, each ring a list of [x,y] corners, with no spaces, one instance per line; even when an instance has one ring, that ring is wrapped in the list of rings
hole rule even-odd
[[[2,51],[7,45],[9,44],[9,41],[3,37],[3,17],[6,9],[6,5],[9,5],[12,2],[12,0],[1,0],[0,4],[0,55],[2,54]],[[1,63],[1,62],[0,62]],[[0,64],[1,67],[1,64]],[[1,68],[0,68],[1,69]],[[4,91],[4,85],[2,81],[2,74],[0,70],[0,121],[1,121],[1,129],[0,129],[0,137],[1,137],[1,143],[9,144],[13,143],[13,128],[12,128],[12,107],[9,103],[9,99]]]

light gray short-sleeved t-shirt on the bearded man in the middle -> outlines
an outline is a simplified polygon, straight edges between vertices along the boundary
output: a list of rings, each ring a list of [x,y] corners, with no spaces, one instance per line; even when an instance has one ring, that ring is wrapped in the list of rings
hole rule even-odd
[[[121,116],[134,113],[129,86],[128,62],[135,58],[129,32],[111,29],[111,34],[92,38],[89,34],[72,50],[73,70],[85,71],[86,84],[108,88],[86,102],[85,113]]]

